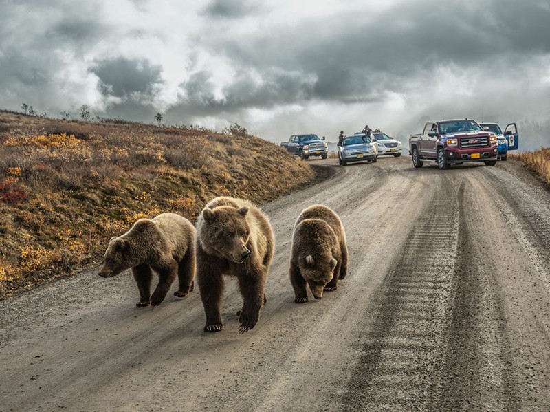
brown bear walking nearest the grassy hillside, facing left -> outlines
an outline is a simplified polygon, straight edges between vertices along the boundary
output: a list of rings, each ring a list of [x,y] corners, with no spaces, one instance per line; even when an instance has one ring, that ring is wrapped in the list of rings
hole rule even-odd
[[[105,252],[100,277],[113,277],[132,268],[143,307],[159,305],[176,275],[179,288],[175,296],[187,296],[195,278],[195,226],[175,213],[162,213],[153,219],[140,219],[120,237],[111,237]],[[151,295],[154,270],[159,283]]]

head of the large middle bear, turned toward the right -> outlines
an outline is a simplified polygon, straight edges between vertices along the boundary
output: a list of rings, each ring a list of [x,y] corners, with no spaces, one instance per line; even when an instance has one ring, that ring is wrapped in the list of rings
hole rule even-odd
[[[250,240],[250,226],[246,219],[248,207],[218,206],[206,208],[201,241],[219,257],[234,263],[243,263],[252,252],[247,244]]]

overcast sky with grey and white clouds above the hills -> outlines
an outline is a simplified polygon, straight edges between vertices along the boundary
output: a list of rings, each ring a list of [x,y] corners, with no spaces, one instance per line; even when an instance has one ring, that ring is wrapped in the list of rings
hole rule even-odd
[[[366,123],[404,136],[427,119],[483,115],[523,124],[529,148],[550,144],[550,0],[0,0],[0,10],[5,109],[77,116],[86,104],[143,122],[160,111],[167,124],[237,122],[275,142],[336,140]]]

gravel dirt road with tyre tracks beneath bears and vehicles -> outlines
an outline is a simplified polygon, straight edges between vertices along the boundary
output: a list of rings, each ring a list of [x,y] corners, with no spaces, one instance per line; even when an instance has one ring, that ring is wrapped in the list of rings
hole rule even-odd
[[[517,162],[336,166],[266,204],[276,235],[259,323],[203,332],[197,290],[136,308],[131,274],[84,272],[0,302],[0,411],[550,409],[550,192]],[[342,217],[349,273],[293,302],[294,220]],[[173,286],[175,290],[175,286]]]

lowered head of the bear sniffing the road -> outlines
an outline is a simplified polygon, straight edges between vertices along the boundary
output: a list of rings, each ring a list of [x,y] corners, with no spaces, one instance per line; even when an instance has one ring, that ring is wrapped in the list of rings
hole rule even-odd
[[[322,292],[332,280],[337,263],[330,252],[316,253],[315,256],[312,252],[306,252],[299,257],[300,273],[315,299],[322,299]]]

